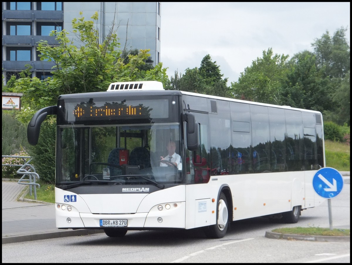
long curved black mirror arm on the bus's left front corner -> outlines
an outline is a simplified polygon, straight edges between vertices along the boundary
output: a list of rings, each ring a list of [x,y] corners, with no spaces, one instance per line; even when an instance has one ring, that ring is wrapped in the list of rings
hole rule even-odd
[[[56,115],[56,108],[56,106],[44,107],[33,115],[27,127],[27,140],[32,146],[38,143],[40,125],[45,120],[46,116],[52,114]]]

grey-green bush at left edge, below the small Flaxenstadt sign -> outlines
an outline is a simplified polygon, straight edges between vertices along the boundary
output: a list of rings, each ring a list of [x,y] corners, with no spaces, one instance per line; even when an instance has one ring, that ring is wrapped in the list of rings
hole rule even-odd
[[[2,155],[12,155],[26,149],[27,127],[15,118],[13,110],[2,111]],[[2,163],[4,164],[4,163]]]

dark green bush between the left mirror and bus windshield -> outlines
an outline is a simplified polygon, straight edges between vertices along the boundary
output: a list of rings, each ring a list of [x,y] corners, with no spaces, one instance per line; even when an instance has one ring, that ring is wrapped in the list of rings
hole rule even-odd
[[[38,143],[30,147],[33,157],[31,164],[46,183],[55,182],[55,136],[55,119],[46,119],[40,127]]]

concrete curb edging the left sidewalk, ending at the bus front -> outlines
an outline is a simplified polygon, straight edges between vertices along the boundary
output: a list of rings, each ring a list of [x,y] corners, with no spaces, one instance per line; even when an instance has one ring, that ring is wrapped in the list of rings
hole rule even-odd
[[[103,229],[77,229],[77,230],[58,230],[57,232],[45,232],[37,234],[23,234],[14,236],[2,237],[2,244],[17,243],[24,241],[52,239],[52,238],[64,238],[67,236],[83,236],[104,233]]]

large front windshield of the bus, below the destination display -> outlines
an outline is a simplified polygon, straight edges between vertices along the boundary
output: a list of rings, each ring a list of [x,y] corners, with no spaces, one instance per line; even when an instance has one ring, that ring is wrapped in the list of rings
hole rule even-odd
[[[126,185],[153,185],[153,181],[182,183],[182,162],[175,165],[168,159],[162,161],[168,157],[166,147],[170,140],[175,142],[175,153],[179,154],[179,124],[72,125],[63,126],[59,132],[61,163],[56,175],[57,185],[69,185],[72,181],[89,184],[88,180],[107,185],[109,181]]]

